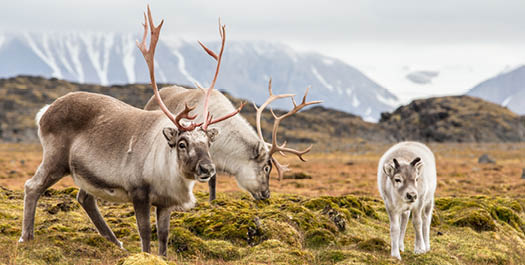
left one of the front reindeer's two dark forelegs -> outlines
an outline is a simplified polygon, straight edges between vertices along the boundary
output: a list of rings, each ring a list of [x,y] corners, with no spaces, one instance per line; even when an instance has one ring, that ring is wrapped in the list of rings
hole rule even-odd
[[[151,225],[149,221],[149,212],[151,204],[149,202],[149,194],[145,190],[137,189],[132,192],[131,198],[133,200],[135,217],[137,218],[140,241],[142,242],[142,251],[150,253]]]

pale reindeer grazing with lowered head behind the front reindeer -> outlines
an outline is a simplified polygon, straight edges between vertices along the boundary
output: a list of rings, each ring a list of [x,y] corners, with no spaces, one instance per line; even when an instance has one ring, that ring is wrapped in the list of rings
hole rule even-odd
[[[235,176],[239,187],[250,192],[256,200],[270,197],[269,176],[272,170],[272,164],[277,168],[279,179],[282,178],[284,171],[288,170],[287,167],[279,164],[273,157],[275,152],[293,153],[302,161],[305,161],[302,155],[311,149],[310,146],[304,151],[297,151],[286,148],[286,143],[282,146],[277,145],[277,128],[279,127],[280,121],[295,114],[305,106],[321,102],[305,102],[308,91],[306,91],[303,102],[299,106],[295,105],[295,101],[292,101],[294,109],[276,118],[273,127],[272,144],[269,144],[264,141],[262,136],[262,111],[276,99],[290,97],[293,100],[294,96],[293,94],[274,95],[272,93],[271,80],[269,82],[269,91],[270,97],[257,109],[257,132],[253,130],[243,117],[236,115],[216,125],[217,128],[221,130],[221,134],[217,136],[216,141],[210,147],[210,153],[217,169]],[[183,98],[188,99],[190,104],[197,106],[197,109],[199,109],[203,107],[205,90],[170,86],[161,89],[160,96],[172,111],[180,109],[180,100]],[[210,105],[209,111],[215,115],[224,115],[234,110],[232,103],[217,90],[212,91],[210,101],[213,102],[213,104]],[[159,106],[153,97],[150,98],[144,107],[145,110],[155,110],[158,108]],[[208,185],[210,189],[210,201],[212,201],[215,199],[216,177],[212,177]]]

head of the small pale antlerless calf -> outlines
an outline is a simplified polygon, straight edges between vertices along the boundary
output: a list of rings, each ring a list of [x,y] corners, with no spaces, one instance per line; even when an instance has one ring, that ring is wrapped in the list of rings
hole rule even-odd
[[[418,198],[418,184],[423,162],[416,157],[412,162],[399,163],[393,159],[391,163],[385,163],[383,172],[390,179],[394,188],[394,196],[405,203],[413,203]]]

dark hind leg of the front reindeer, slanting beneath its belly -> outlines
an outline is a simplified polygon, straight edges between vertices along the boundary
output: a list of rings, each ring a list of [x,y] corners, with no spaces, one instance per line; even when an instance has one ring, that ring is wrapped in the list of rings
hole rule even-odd
[[[104,218],[98,211],[95,197],[88,194],[83,189],[80,189],[77,194],[77,201],[82,205],[82,208],[84,208],[84,211],[88,214],[89,219],[91,219],[91,222],[93,222],[99,234],[124,249],[122,242],[117,240],[117,237],[113,231],[111,231],[111,228],[109,228],[108,224],[104,221]]]

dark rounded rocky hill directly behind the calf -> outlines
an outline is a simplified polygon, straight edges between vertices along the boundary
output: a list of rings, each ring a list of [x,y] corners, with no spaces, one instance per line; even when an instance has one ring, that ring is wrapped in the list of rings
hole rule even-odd
[[[397,140],[428,142],[525,141],[525,118],[470,96],[414,100],[379,122]]]

